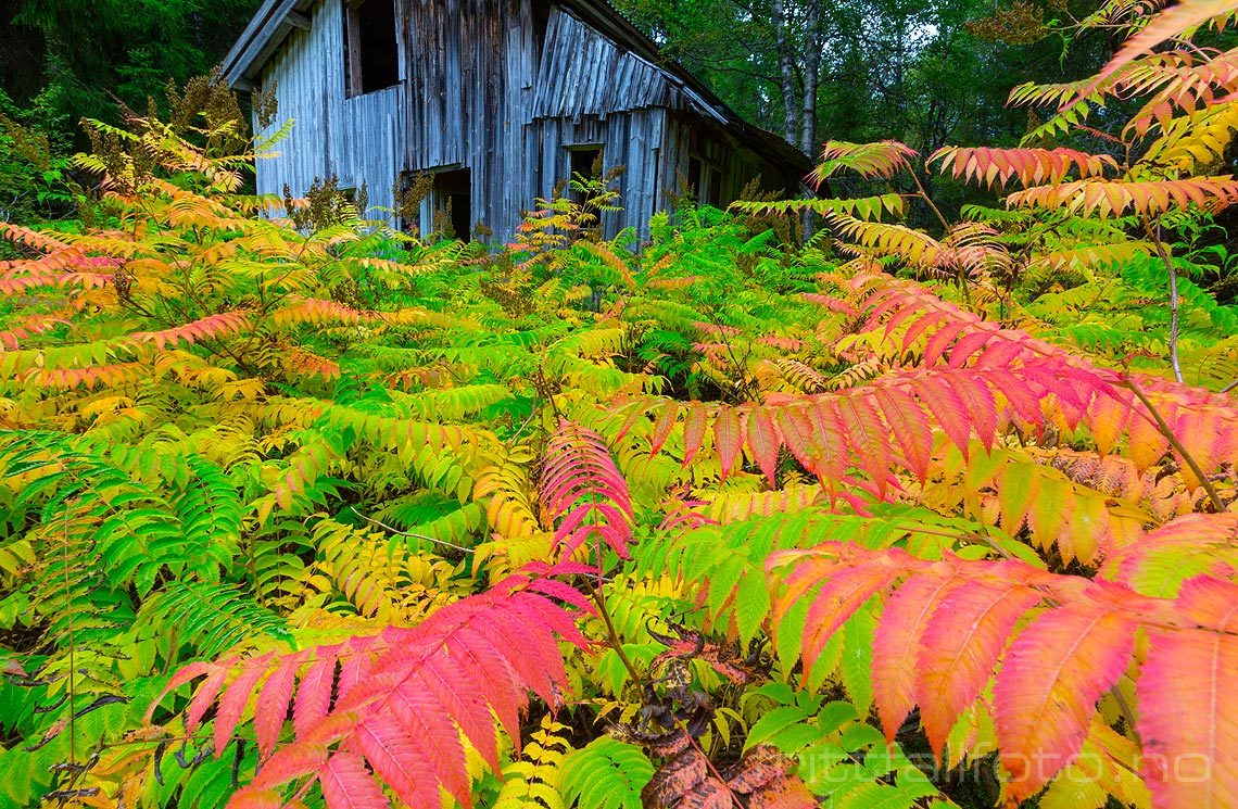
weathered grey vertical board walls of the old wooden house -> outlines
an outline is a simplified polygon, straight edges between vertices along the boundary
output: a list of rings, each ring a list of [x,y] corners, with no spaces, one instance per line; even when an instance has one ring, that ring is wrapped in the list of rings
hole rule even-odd
[[[390,208],[401,172],[468,168],[472,219],[506,239],[571,174],[569,147],[600,145],[607,171],[625,167],[624,210],[604,231],[644,234],[687,173],[693,140],[730,172],[728,199],[751,173],[755,156],[728,142],[691,88],[569,12],[552,7],[535,41],[532,4],[547,0],[400,0],[401,83],[347,98],[343,1],[319,0],[311,28],[292,31],[262,69],[280,121],[296,120],[281,155],[259,166],[262,193],[287,183],[300,194],[335,174]]]

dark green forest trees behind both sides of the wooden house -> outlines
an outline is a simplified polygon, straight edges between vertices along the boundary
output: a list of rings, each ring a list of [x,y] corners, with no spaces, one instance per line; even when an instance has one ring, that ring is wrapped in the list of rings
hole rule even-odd
[[[0,219],[69,215],[61,181],[87,145],[79,120],[119,122],[121,105],[145,111],[168,80],[208,72],[258,5],[0,1]],[[1005,105],[1014,85],[1087,75],[1120,40],[1066,38],[1092,0],[617,5],[740,114],[812,156],[827,139],[891,139],[926,155],[947,143],[1014,145],[1029,129],[1028,111]],[[946,182],[931,189],[941,204],[963,202],[959,186],[921,179]]]

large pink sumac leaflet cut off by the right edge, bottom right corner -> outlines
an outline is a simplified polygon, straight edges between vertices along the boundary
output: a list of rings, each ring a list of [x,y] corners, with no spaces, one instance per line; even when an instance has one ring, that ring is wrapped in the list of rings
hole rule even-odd
[[[1148,632],[1139,673],[1140,774],[1158,809],[1238,805],[1238,588],[1196,578],[1176,606],[1197,630]]]

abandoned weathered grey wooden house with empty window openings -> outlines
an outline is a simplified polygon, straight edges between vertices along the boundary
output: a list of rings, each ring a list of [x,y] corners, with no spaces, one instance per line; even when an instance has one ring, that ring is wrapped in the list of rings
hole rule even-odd
[[[808,161],[745,124],[605,0],[265,0],[224,62],[239,90],[274,88],[293,119],[258,189],[303,193],[334,176],[391,209],[418,174],[417,221],[446,210],[464,235],[510,236],[573,172],[623,166],[607,235],[690,186],[724,205],[754,177],[795,193]],[[391,218],[389,215],[389,218]]]

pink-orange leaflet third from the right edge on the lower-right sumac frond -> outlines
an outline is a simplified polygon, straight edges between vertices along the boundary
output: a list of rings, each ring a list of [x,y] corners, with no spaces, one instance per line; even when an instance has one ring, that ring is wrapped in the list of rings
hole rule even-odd
[[[933,611],[916,658],[916,703],[936,756],[989,682],[1015,622],[1041,597],[1013,581],[968,581]]]

